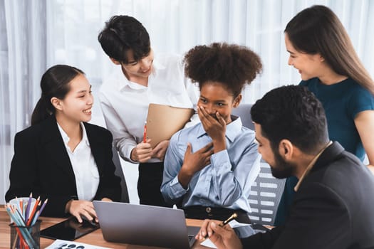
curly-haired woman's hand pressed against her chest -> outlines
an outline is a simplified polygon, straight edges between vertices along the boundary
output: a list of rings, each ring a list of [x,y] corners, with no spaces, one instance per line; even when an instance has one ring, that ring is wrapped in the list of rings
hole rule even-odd
[[[191,144],[187,144],[187,149],[185,152],[185,159],[183,160],[182,168],[178,174],[178,181],[187,189],[189,181],[191,181],[192,176],[199,170],[203,169],[205,166],[210,164],[210,156],[213,154],[212,150],[213,143],[205,145],[197,152],[192,153]]]

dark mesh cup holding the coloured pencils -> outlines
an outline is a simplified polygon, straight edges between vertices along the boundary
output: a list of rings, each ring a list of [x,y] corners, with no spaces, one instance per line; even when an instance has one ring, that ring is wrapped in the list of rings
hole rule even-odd
[[[11,248],[40,248],[40,231],[41,221],[36,221],[33,226],[16,226],[14,223],[11,227]]]

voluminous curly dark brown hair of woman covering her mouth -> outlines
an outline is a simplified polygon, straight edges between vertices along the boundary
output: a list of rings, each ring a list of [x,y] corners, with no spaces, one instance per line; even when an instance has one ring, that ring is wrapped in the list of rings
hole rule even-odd
[[[184,63],[185,75],[199,83],[200,90],[209,81],[219,82],[234,97],[262,70],[259,55],[245,46],[227,43],[195,46],[185,55]]]

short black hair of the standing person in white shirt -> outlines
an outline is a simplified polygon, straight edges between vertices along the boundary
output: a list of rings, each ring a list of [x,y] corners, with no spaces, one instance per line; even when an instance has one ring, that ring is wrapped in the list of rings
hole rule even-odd
[[[132,50],[134,60],[150,53],[150,36],[140,21],[132,16],[112,16],[98,35],[103,51],[119,62],[128,64],[127,52]]]

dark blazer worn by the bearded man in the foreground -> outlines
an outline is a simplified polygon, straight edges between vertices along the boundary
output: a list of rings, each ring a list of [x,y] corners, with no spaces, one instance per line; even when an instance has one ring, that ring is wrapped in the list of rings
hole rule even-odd
[[[296,192],[285,226],[241,240],[244,248],[374,248],[374,176],[334,142]]]

